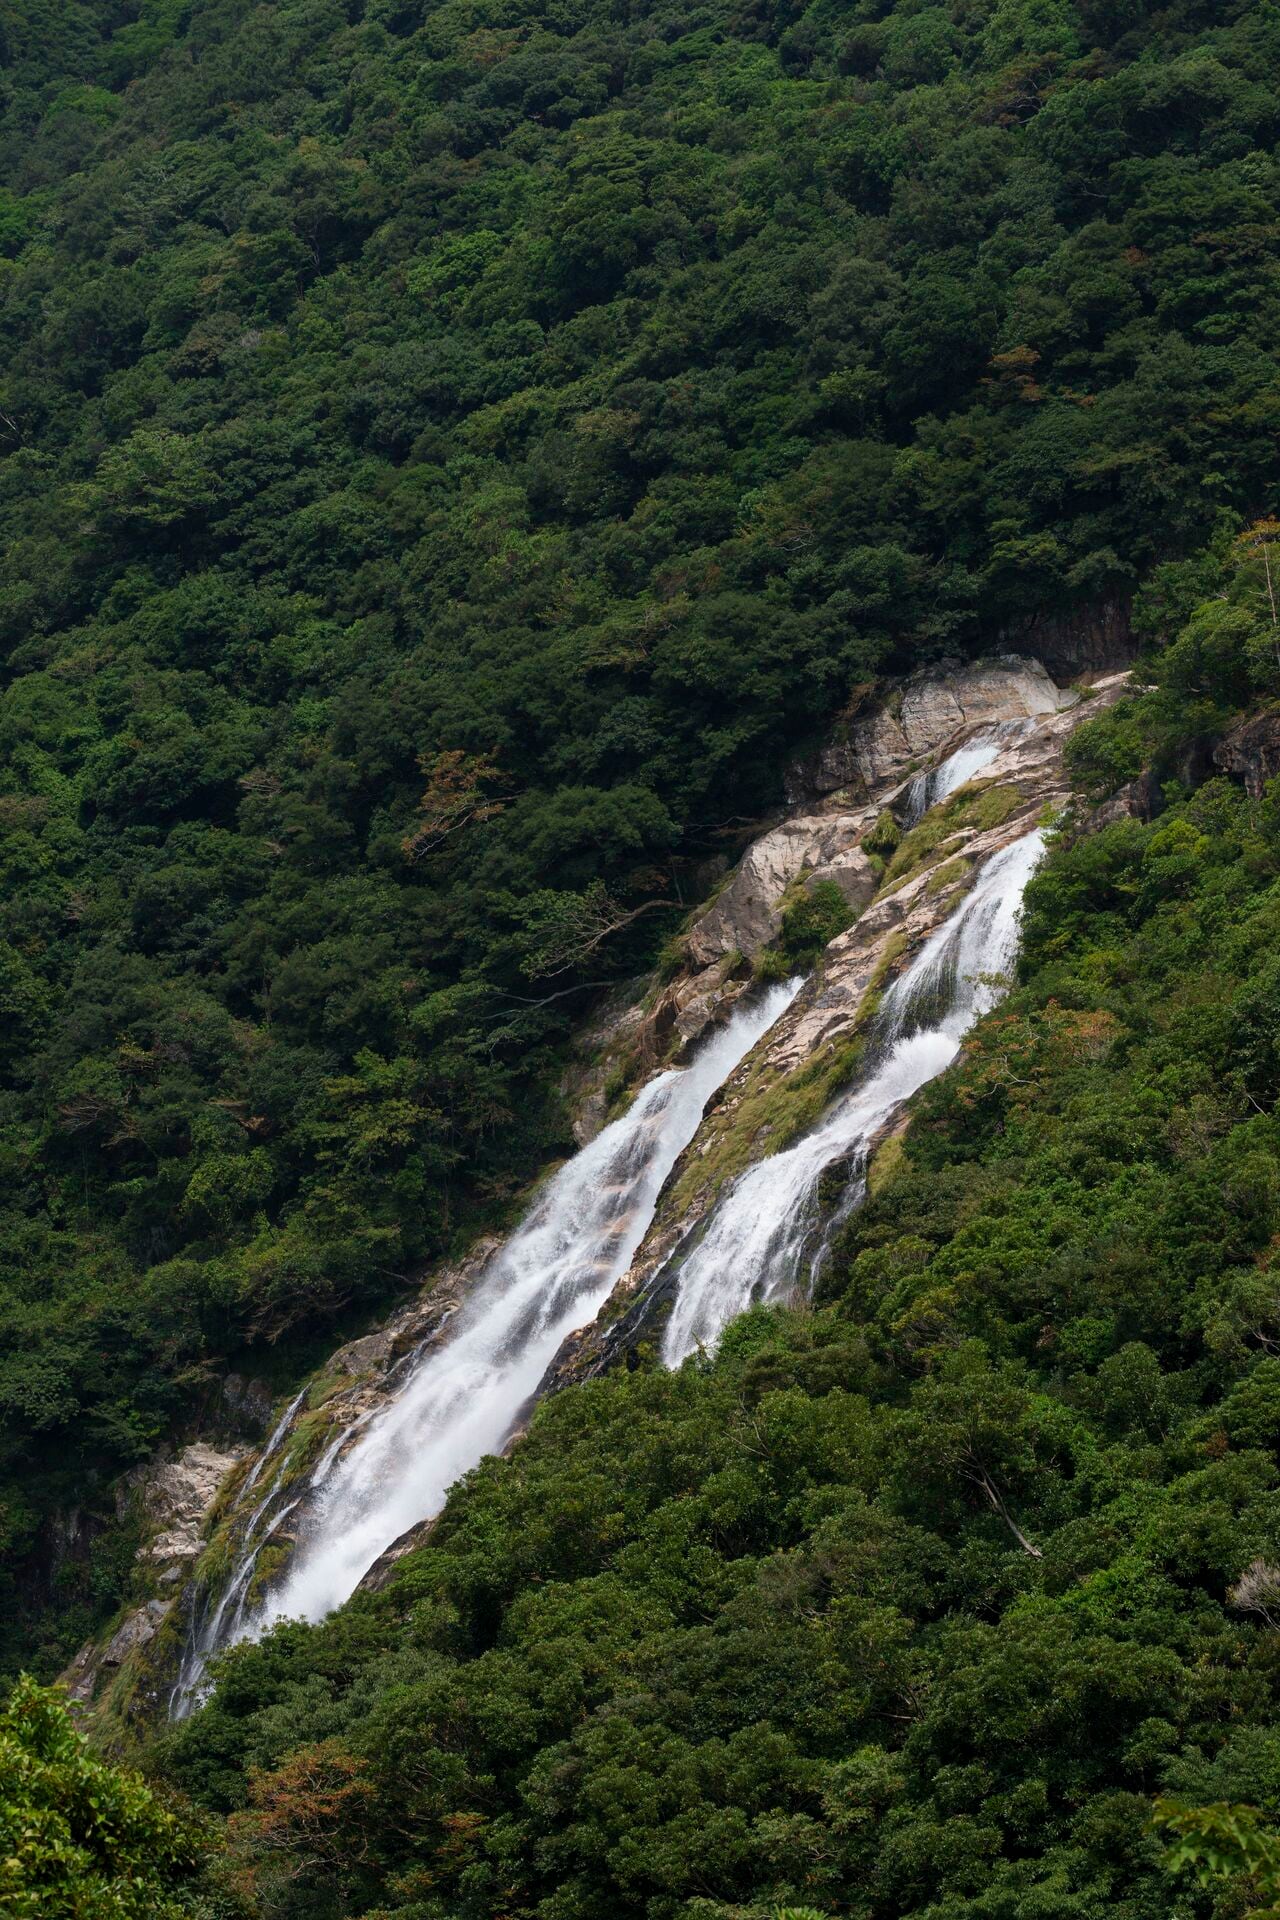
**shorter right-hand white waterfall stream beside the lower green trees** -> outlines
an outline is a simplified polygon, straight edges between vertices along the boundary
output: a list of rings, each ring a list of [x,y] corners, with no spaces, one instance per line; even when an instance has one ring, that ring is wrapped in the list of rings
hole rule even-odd
[[[960,781],[956,781],[960,785]],[[1027,833],[992,854],[973,889],[885,995],[858,1087],[785,1152],[756,1162],[720,1196],[706,1231],[677,1269],[662,1359],[677,1367],[714,1352],[723,1329],[760,1300],[787,1300],[821,1258],[818,1183],[825,1167],[852,1167],[850,1204],[862,1198],[867,1152],[894,1112],[942,1073],[973,1021],[1000,998],[1017,952],[1023,893],[1044,839]]]

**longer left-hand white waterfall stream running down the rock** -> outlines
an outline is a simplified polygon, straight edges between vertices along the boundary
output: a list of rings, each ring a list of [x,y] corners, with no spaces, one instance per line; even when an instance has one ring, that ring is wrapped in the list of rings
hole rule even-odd
[[[263,1528],[267,1501],[259,1503],[217,1609],[188,1644],[175,1718],[198,1705],[213,1653],[259,1638],[274,1620],[319,1620],[342,1605],[393,1540],[438,1513],[453,1482],[503,1446],[562,1340],[595,1317],[631,1265],[706,1100],[798,989],[793,979],[737,1006],[687,1068],[658,1073],[622,1119],[553,1175],[447,1336],[415,1357],[388,1405],[330,1444],[294,1501],[305,1500],[307,1513],[290,1569],[246,1613],[257,1555],[294,1511]]]

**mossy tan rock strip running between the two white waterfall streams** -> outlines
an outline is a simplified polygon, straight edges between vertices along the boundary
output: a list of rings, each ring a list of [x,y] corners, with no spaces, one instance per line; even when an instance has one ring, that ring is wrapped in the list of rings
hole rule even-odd
[[[1067,806],[1063,745],[1086,714],[1123,693],[1126,678],[1107,676],[1080,699],[1061,695],[1034,662],[979,666],[938,689],[936,697],[931,687],[921,687],[925,697],[910,705],[904,699],[904,716],[865,722],[833,758],[819,762],[831,774],[818,778],[833,778],[837,770],[844,778],[856,755],[854,778],[867,793],[867,804],[793,822],[796,831],[812,828],[810,872],[844,862],[848,870],[869,876],[871,899],[854,925],[831,941],[789,1012],[722,1087],[666,1185],[629,1273],[597,1323],[566,1344],[547,1377],[547,1390],[599,1373],[649,1334],[670,1294],[672,1256],[697,1235],[725,1181],[814,1125],[856,1071],[860,1035],[889,979],[952,914],[992,852]],[[965,718],[952,730],[948,722],[958,710]],[[975,722],[973,714],[981,718]],[[992,730],[1000,733],[1000,751],[979,778],[900,831],[896,816],[904,812],[908,795],[902,776],[919,764],[910,743],[925,728],[935,737],[933,760]],[[885,743],[879,760],[875,743]],[[877,766],[883,768],[879,783]],[[814,772],[802,778],[812,791]],[[862,845],[881,824],[890,824],[889,839],[896,837],[887,864],[867,856]],[[877,831],[877,839],[883,837]],[[735,881],[747,885],[750,876],[754,883],[760,874],[754,856],[756,849],[743,860]]]

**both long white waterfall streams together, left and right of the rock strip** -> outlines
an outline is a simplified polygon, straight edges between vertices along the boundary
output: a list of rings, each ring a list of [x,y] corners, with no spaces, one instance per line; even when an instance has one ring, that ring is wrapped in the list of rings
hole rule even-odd
[[[986,858],[950,920],[885,993],[850,1092],[810,1135],[739,1175],[697,1240],[674,1256],[668,1367],[714,1352],[748,1306],[785,1300],[808,1283],[821,1258],[823,1169],[848,1164],[848,1204],[856,1204],[865,1158],[887,1123],[950,1066],[965,1031],[994,1006],[1042,851],[1032,831]],[[631,1265],[708,1098],[798,989],[800,981],[789,981],[739,1004],[687,1068],[649,1081],[622,1119],[566,1162],[443,1336],[405,1365],[395,1398],[338,1434],[307,1486],[271,1511],[278,1471],[242,1534],[221,1599],[192,1620],[175,1716],[207,1692],[215,1653],[259,1638],[276,1620],[332,1613],[401,1534],[439,1511],[461,1475],[503,1448],[564,1338],[595,1317]],[[271,1448],[257,1475],[269,1455]],[[292,1561],[267,1597],[249,1605],[257,1555],[294,1509],[305,1517]]]

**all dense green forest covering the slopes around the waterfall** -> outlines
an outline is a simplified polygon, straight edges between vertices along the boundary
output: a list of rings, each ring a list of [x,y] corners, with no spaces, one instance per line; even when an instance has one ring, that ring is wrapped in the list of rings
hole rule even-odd
[[[543,1405],[152,1786],[23,1682],[15,1912],[1251,1905],[1151,1803],[1280,1820],[1280,797],[1205,756],[1280,695],[1278,71],[1272,0],[8,0],[2,1668],[228,1365],[510,1212],[885,674],[1138,589],[1073,768],[1159,806],[816,1311]]]

